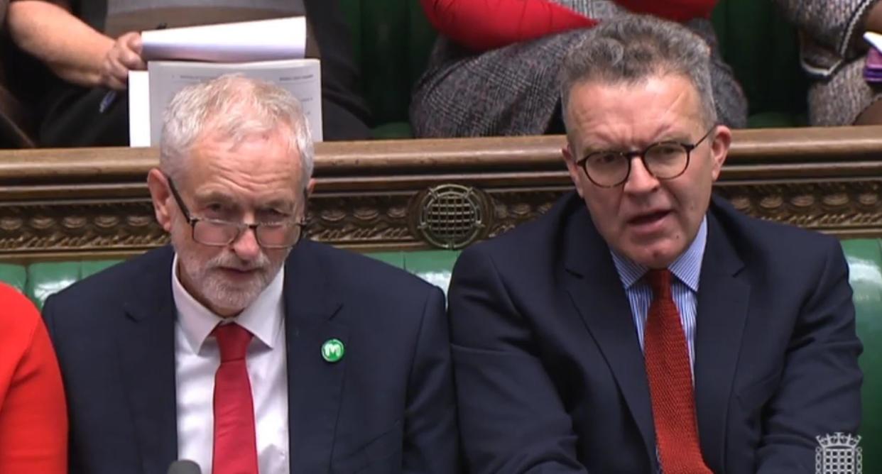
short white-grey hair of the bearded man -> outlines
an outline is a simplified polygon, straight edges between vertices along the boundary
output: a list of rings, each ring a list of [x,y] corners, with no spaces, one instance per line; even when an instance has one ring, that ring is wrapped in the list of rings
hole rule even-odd
[[[175,94],[162,117],[160,169],[173,178],[206,132],[219,132],[234,144],[247,137],[287,127],[292,154],[300,154],[305,189],[312,176],[312,134],[303,107],[288,91],[258,79],[228,74],[188,85]]]

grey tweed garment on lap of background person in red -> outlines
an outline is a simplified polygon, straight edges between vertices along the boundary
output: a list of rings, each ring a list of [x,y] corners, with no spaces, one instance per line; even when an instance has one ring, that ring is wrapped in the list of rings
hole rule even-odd
[[[554,0],[593,19],[627,14],[610,0]],[[707,19],[687,24],[711,46],[711,76],[720,121],[747,122],[747,100],[716,45]],[[572,30],[480,54],[440,37],[415,86],[410,120],[417,137],[542,135],[562,132],[557,75],[586,30]]]

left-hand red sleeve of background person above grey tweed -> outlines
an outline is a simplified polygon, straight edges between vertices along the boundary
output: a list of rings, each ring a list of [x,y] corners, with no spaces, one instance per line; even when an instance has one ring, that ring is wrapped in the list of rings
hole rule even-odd
[[[432,26],[477,51],[597,24],[549,0],[420,0]]]

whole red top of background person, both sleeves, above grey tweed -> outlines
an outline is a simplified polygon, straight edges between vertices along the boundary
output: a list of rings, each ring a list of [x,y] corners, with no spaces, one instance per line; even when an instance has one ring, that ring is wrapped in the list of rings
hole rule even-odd
[[[550,0],[420,0],[435,28],[461,45],[486,51],[597,24]],[[707,18],[716,0],[617,0],[637,13],[685,21]]]

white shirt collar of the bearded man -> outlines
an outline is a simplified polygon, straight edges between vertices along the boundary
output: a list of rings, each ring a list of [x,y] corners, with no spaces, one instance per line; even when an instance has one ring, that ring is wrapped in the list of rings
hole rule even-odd
[[[258,298],[233,318],[221,318],[192,297],[177,277],[178,259],[172,263],[172,296],[177,308],[177,320],[181,324],[184,337],[194,353],[198,353],[211,335],[214,327],[221,322],[236,322],[254,335],[266,347],[273,349],[279,344],[282,330],[283,309],[282,290],[284,289],[285,269],[282,267],[273,281],[264,288]]]

